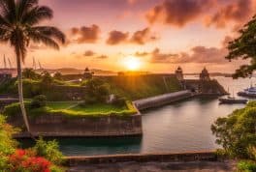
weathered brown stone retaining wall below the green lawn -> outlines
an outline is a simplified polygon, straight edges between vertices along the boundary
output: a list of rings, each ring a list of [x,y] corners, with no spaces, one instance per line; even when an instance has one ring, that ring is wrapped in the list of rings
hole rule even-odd
[[[24,129],[21,115],[8,119],[8,123]],[[42,115],[29,118],[30,129],[34,136],[45,137],[94,137],[142,135],[141,114],[131,116],[106,117],[68,117],[65,115]],[[14,137],[28,137],[21,132]]]

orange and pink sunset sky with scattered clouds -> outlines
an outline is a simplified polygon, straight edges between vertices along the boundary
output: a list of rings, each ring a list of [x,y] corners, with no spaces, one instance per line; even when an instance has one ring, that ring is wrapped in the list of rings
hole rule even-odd
[[[59,51],[31,44],[44,68],[85,67],[126,71],[136,58],[141,71],[234,72],[242,63],[224,59],[227,43],[256,14],[256,0],[40,0],[54,11],[42,24],[59,27],[67,43]],[[15,63],[13,50],[1,45]],[[0,67],[3,64],[0,61]]]

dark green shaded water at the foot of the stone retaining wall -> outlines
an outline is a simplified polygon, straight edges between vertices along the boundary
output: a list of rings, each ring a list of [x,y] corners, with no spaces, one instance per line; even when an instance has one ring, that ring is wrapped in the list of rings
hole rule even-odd
[[[47,139],[52,140],[52,139]],[[115,138],[55,138],[65,156],[112,155],[140,153],[142,137]],[[31,139],[19,140],[23,148],[35,144]]]

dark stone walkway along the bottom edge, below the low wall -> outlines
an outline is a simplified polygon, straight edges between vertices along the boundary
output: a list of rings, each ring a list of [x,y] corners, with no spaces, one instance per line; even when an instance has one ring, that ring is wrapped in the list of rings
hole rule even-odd
[[[233,161],[211,162],[120,162],[72,167],[69,172],[232,172],[236,171]]]

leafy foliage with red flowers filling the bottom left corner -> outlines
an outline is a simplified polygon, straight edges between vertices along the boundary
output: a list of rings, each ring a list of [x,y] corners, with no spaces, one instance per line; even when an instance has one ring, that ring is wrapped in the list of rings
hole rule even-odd
[[[1,172],[62,172],[63,156],[55,141],[39,139],[35,147],[28,150],[18,149],[12,139],[15,129],[5,123],[0,115],[0,171]]]

